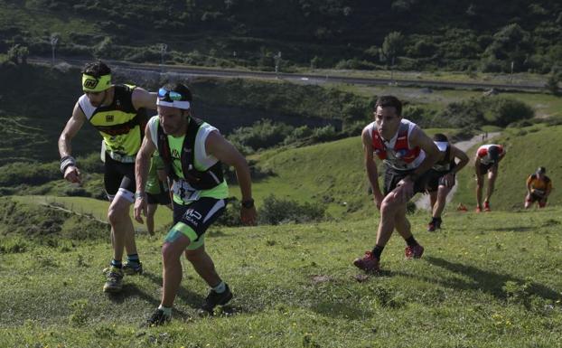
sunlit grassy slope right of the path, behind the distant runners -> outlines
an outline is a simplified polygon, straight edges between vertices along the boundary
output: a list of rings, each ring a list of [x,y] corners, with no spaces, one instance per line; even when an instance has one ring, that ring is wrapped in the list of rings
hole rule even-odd
[[[501,160],[496,191],[492,195],[492,208],[501,210],[522,209],[526,194],[525,181],[539,166],[547,167],[554,190],[548,198],[548,204],[562,204],[559,185],[562,183],[562,163],[557,158],[557,148],[562,146],[560,136],[562,126],[535,125],[523,128],[507,128],[502,136],[493,139],[493,144],[502,144],[507,148],[507,155]],[[468,154],[473,158],[475,146]],[[467,165],[459,175],[459,190],[454,202],[463,202],[474,208],[473,164]]]

